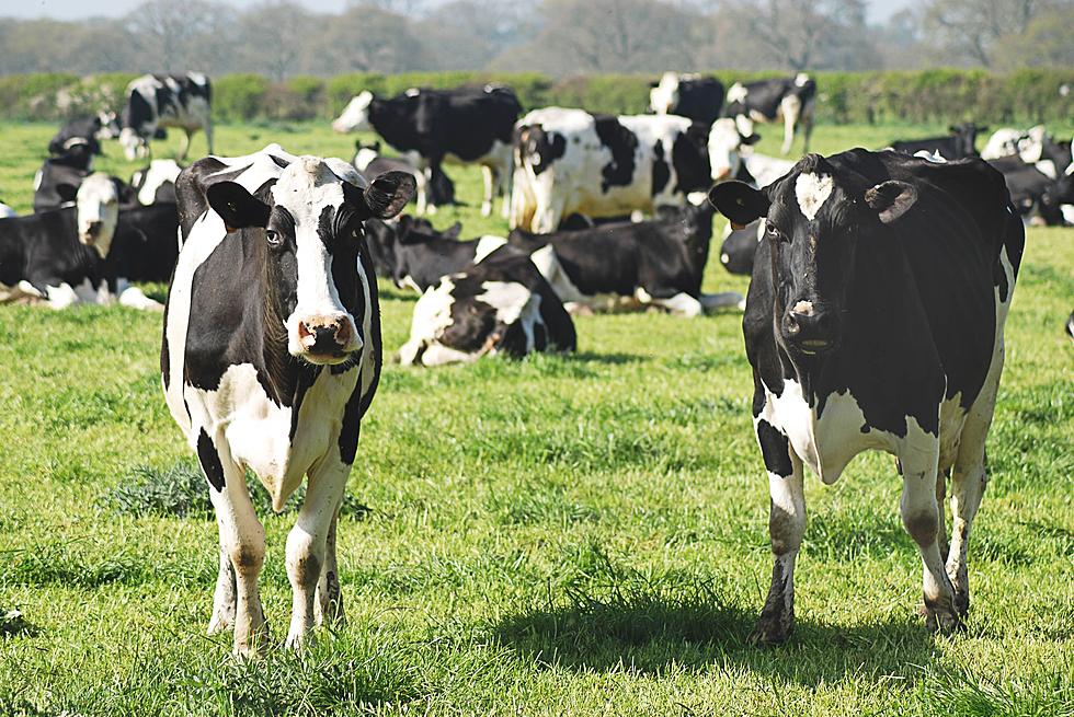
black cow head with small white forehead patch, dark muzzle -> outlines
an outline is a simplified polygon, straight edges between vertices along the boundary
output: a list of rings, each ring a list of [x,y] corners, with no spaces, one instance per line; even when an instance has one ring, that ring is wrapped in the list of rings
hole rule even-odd
[[[839,344],[858,242],[898,221],[917,189],[836,177],[824,158],[808,154],[764,189],[729,182],[715,186],[709,199],[734,225],[765,218],[776,335],[792,356],[813,357]]]

